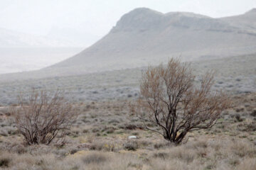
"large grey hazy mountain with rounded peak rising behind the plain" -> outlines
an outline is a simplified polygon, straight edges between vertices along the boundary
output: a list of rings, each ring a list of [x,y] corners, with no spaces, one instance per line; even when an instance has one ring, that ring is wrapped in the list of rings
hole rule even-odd
[[[255,9],[241,16],[210,18],[136,8],[94,45],[46,69],[71,74],[142,67],[169,57],[200,60],[251,54],[256,52],[254,16]]]

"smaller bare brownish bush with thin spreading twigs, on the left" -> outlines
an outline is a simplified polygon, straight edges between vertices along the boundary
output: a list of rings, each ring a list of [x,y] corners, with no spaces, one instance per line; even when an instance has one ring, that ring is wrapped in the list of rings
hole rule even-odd
[[[63,139],[77,113],[59,91],[33,91],[29,96],[18,96],[18,106],[12,108],[16,126],[28,145],[49,145]]]

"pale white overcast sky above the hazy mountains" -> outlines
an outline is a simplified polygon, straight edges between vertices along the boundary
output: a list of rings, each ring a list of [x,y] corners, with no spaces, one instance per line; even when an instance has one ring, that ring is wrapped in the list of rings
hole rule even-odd
[[[47,35],[51,28],[75,28],[102,36],[137,7],[217,18],[256,8],[256,0],[0,0],[0,28],[36,35]]]

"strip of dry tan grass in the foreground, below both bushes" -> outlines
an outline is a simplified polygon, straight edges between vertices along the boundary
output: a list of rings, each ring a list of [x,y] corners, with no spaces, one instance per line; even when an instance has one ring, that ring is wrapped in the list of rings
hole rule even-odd
[[[67,149],[67,148],[65,148]],[[185,145],[136,151],[26,147],[1,151],[2,169],[255,169],[256,148],[246,140],[198,140]],[[74,153],[75,152],[75,153]],[[64,154],[65,153],[65,154]]]

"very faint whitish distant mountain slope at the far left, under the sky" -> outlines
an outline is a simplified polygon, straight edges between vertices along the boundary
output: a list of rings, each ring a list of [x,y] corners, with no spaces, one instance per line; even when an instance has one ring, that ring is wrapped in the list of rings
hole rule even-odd
[[[0,47],[72,47],[67,41],[0,28]]]

